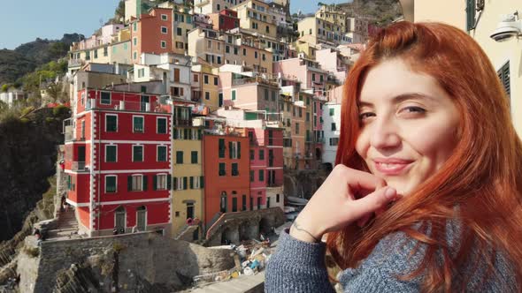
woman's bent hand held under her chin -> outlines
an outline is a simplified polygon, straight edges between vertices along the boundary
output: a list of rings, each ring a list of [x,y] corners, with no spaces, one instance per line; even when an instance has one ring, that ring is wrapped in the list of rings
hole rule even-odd
[[[337,165],[297,216],[290,235],[306,242],[319,241],[326,232],[367,219],[395,197],[395,189],[386,186],[384,179]]]

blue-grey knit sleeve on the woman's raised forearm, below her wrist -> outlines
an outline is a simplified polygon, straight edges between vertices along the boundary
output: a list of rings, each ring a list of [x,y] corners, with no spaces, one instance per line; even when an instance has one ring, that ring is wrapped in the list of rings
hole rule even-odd
[[[326,244],[311,244],[282,231],[269,259],[265,292],[335,292],[325,265]]]

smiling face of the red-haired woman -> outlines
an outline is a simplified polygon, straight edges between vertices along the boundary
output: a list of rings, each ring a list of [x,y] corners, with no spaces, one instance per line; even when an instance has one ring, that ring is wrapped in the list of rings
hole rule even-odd
[[[402,195],[433,176],[457,145],[456,104],[434,78],[399,58],[368,71],[359,116],[357,154]]]

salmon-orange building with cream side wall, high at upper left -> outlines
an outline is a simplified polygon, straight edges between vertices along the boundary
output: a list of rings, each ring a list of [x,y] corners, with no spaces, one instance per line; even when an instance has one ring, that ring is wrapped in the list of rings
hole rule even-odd
[[[142,53],[162,54],[173,51],[172,8],[153,8],[140,19],[131,19],[132,61],[140,64]]]

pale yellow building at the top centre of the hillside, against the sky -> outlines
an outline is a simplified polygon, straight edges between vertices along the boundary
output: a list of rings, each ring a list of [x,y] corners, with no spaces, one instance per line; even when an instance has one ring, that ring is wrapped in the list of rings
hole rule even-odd
[[[248,0],[232,8],[237,11],[240,27],[257,34],[277,37],[277,22],[268,4],[259,0]]]

